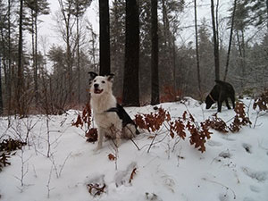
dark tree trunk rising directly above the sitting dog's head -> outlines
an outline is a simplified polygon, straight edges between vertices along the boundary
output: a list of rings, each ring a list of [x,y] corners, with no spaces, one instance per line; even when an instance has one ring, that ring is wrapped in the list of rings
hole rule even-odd
[[[99,0],[100,75],[111,73],[109,1]]]

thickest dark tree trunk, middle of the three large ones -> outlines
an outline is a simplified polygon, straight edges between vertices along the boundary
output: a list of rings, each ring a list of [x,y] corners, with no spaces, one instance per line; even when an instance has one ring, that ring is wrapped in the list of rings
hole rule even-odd
[[[139,106],[138,61],[139,21],[137,0],[126,1],[126,45],[123,80],[123,105]]]

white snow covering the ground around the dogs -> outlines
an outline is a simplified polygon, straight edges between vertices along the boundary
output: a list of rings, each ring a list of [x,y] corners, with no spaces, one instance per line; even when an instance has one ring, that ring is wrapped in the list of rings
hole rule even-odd
[[[196,121],[204,121],[216,108],[205,110],[205,105],[191,98],[186,104],[165,103],[161,106],[176,119],[185,110]],[[255,121],[250,99],[243,99],[250,110],[250,120]],[[251,104],[250,104],[251,103]],[[159,105],[160,106],[160,105]],[[131,117],[136,113],[154,112],[153,106],[127,108]],[[188,142],[170,138],[163,127],[155,138],[149,153],[152,133],[143,132],[134,139],[138,148],[123,141],[117,160],[113,143],[105,141],[99,152],[96,144],[86,142],[84,131],[71,126],[79,111],[69,111],[61,116],[49,116],[49,143],[45,115],[27,119],[0,119],[0,134],[4,138],[25,138],[29,130],[29,144],[22,151],[15,151],[10,162],[0,172],[0,200],[4,201],[267,201],[268,200],[268,114],[260,116],[256,127],[243,127],[239,133],[222,134],[212,130],[205,153],[199,152]],[[224,121],[234,116],[234,111],[222,107],[218,113]],[[49,155],[48,146],[50,145]],[[136,174],[130,182],[130,175]],[[24,176],[21,180],[21,175]],[[105,193],[92,196],[88,184],[105,184]],[[21,185],[23,184],[23,186]]]

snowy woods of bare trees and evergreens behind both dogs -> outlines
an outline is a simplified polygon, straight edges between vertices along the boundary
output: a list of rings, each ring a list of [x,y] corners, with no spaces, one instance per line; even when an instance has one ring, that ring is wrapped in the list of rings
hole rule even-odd
[[[99,4],[99,34],[87,9]],[[110,4],[109,4],[110,3]],[[115,74],[123,105],[268,87],[267,1],[0,0],[0,114],[65,113],[88,101],[88,71]],[[207,16],[197,19],[199,13]],[[189,13],[195,16],[189,19]],[[38,29],[53,15],[59,42]]]

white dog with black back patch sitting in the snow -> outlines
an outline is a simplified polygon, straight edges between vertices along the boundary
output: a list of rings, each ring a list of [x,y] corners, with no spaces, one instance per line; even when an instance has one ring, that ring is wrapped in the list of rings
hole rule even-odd
[[[105,137],[115,139],[116,147],[121,144],[121,138],[134,138],[139,134],[137,126],[123,107],[113,96],[113,74],[99,76],[88,72],[90,79],[90,106],[96,121],[98,138],[96,150],[103,146]]]

